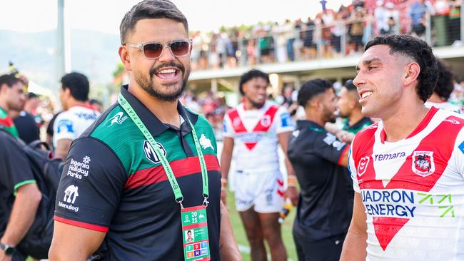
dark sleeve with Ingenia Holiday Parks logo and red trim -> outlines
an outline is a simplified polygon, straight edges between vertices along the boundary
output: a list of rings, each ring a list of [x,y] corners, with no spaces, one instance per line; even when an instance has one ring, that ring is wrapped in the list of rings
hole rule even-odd
[[[107,232],[127,175],[113,151],[96,138],[74,141],[56,192],[55,220]]]

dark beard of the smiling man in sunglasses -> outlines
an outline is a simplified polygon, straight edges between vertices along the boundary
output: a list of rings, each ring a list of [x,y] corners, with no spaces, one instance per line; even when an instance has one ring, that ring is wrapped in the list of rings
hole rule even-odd
[[[160,91],[161,88],[155,86],[155,84],[153,83],[153,76],[155,75],[156,71],[159,71],[161,68],[168,66],[176,67],[180,70],[179,73],[182,73],[183,78],[181,88],[178,88],[177,90],[174,90],[171,93],[162,93]],[[147,79],[144,78],[142,74],[135,74],[135,80],[138,83],[138,85],[141,86],[143,91],[146,91],[150,96],[153,96],[154,98],[158,98],[158,100],[173,102],[176,101],[179,97],[181,97],[183,91],[185,91],[188,76],[190,76],[190,69],[186,70],[185,67],[178,63],[163,63],[159,66],[156,66],[155,68],[152,68],[150,70],[149,76],[150,78]],[[170,87],[175,88],[175,86]]]

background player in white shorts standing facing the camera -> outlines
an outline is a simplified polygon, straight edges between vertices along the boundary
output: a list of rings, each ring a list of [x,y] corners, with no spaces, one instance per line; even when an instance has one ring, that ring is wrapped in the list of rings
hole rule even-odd
[[[286,194],[279,170],[278,144],[286,155],[288,137],[293,131],[290,114],[274,103],[266,101],[269,76],[251,70],[241,76],[240,92],[243,103],[227,111],[224,116],[221,170],[226,203],[225,185],[236,148],[236,209],[245,226],[251,246],[251,260],[266,260],[264,239],[268,242],[272,260],[287,260],[282,242],[279,211]],[[286,157],[289,175],[287,195],[296,205],[296,178]]]

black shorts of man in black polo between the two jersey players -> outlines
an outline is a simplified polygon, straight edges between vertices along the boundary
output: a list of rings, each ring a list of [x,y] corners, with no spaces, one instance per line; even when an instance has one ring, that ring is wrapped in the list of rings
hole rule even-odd
[[[311,241],[293,233],[298,261],[338,261],[346,234]]]

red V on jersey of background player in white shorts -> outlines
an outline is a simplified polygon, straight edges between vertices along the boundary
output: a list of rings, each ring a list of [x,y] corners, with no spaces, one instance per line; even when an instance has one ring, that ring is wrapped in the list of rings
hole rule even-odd
[[[269,106],[268,110],[263,114],[263,116],[261,116],[258,123],[256,123],[255,128],[253,128],[253,131],[251,132],[246,130],[236,108],[231,110],[228,113],[228,116],[231,118],[233,131],[236,133],[265,133],[269,131],[269,128],[271,128],[277,111],[278,106]],[[256,144],[258,144],[258,141],[245,142],[246,148],[248,148],[248,150],[253,150]]]

